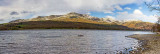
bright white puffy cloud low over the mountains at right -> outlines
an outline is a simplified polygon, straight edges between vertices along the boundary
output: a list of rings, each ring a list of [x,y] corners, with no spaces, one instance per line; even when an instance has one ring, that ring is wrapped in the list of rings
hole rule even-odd
[[[128,12],[118,12],[116,18],[119,20],[142,20],[145,22],[153,23],[157,21],[157,18],[155,16],[144,15],[139,9],[134,10],[131,14],[129,14]]]

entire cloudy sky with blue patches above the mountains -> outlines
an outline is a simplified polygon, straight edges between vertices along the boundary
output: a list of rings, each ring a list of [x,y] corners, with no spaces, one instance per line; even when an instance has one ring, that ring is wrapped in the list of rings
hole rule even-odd
[[[152,0],[0,0],[0,23],[69,12],[99,18],[156,22],[157,11],[149,11],[144,2]]]

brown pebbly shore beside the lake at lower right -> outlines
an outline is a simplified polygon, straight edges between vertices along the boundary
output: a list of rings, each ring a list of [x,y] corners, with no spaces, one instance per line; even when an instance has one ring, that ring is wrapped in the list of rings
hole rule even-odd
[[[126,37],[138,40],[140,46],[137,47],[137,50],[140,54],[160,53],[160,35],[158,34],[134,34]]]

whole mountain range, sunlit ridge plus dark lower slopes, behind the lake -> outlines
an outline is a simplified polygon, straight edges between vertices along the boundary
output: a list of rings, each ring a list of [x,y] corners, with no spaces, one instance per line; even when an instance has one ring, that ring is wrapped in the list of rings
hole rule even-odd
[[[88,14],[71,12],[65,15],[38,16],[31,19],[18,19],[0,28],[37,29],[37,28],[72,28],[72,29],[113,29],[113,30],[151,30],[153,23],[138,20],[118,21],[113,18],[98,18]],[[18,27],[18,28],[17,28]]]

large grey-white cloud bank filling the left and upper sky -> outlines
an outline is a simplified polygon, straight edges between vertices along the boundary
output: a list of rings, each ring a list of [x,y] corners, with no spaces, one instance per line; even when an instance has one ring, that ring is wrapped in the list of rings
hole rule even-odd
[[[120,5],[137,4],[139,3],[137,1],[139,0],[0,0],[0,19],[8,22],[15,18],[24,19],[68,12],[113,13],[115,10],[122,10]],[[11,14],[13,11],[19,14]]]

